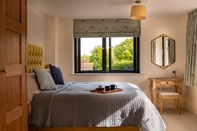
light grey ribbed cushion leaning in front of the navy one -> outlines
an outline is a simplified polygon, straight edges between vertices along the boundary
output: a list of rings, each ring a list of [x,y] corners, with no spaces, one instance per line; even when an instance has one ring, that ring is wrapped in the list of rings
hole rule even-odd
[[[57,87],[50,73],[42,69],[33,69],[41,90],[56,90]]]

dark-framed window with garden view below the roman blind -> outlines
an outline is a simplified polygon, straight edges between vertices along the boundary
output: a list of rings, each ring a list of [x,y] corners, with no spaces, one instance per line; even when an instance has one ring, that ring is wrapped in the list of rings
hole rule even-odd
[[[139,37],[75,38],[75,73],[139,73]]]

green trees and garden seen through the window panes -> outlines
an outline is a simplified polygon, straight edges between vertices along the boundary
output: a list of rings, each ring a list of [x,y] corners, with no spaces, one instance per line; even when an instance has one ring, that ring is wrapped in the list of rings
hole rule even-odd
[[[113,39],[113,38],[112,38]],[[111,47],[111,70],[133,70],[133,38]],[[109,70],[109,48],[106,49],[106,69]],[[102,70],[102,46],[96,45],[89,53],[81,55],[81,70]],[[88,68],[84,68],[86,65]]]

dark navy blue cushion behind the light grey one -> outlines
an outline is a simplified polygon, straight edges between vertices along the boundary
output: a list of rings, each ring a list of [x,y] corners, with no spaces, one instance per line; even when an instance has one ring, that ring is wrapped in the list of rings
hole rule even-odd
[[[51,64],[49,64],[49,68],[55,84],[64,84],[64,78],[61,69]]]

